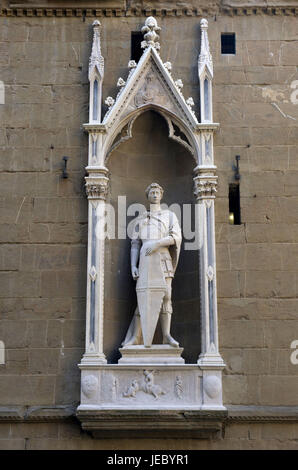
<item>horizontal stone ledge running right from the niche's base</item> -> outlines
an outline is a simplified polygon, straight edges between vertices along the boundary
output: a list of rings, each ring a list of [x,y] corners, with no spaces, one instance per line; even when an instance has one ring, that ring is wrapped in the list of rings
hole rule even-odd
[[[297,406],[236,406],[227,405],[227,424],[231,422],[278,423],[298,422]]]

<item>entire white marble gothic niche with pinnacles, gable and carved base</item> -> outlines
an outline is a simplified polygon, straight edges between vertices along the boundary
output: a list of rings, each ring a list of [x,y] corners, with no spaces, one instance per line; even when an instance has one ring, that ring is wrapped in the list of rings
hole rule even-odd
[[[201,122],[193,111],[193,99],[183,96],[182,81],[173,78],[172,64],[163,63],[161,59],[160,28],[153,17],[147,18],[142,28],[143,55],[138,63],[129,61],[127,78],[118,79],[116,99],[105,99],[108,111],[102,119],[104,60],[100,47],[101,26],[98,21],[93,23],[89,66],[90,112],[89,123],[85,124],[89,133],[86,350],[79,365],[82,372],[81,404],[77,414],[83,427],[94,435],[103,435],[115,428],[124,433],[129,430],[130,435],[134,430],[138,434],[140,429],[152,435],[163,430],[167,430],[167,435],[169,432],[177,434],[179,429],[185,433],[187,411],[191,435],[203,437],[220,430],[226,413],[222,404],[222,369],[225,364],[218,350],[215,260],[217,177],[213,133],[218,124],[212,122],[213,65],[207,36],[208,22],[202,19],[200,24],[198,78]],[[165,319],[170,318],[167,317],[170,315],[169,304],[164,304],[164,300],[158,304],[156,300],[158,296],[166,299],[169,279],[162,280],[166,275],[165,271],[164,274],[159,272],[163,269],[162,264],[158,264],[161,261],[157,264],[146,261],[146,265],[141,253],[143,267],[136,288],[140,316],[134,316],[132,325],[136,332],[136,324],[141,324],[143,342],[124,341],[121,347],[136,295],[131,280],[129,240],[125,237],[119,239],[119,236],[114,240],[106,239],[107,226],[112,229],[112,224],[105,214],[110,202],[118,205],[119,196],[126,197],[126,207],[130,203],[144,204],[144,190],[152,181],[164,186],[163,202],[168,205],[192,203],[198,222],[193,227],[197,245],[195,249],[185,250],[184,243],[173,283],[171,333],[177,337],[179,345],[165,333]],[[156,193],[160,202],[162,189]],[[159,209],[157,214],[160,215],[154,216],[145,211],[142,223],[154,225],[154,217],[161,221],[170,212]],[[118,223],[117,230],[119,227],[120,231],[126,229],[127,222]],[[179,223],[175,222],[175,229],[172,222],[164,223],[169,236],[160,240],[160,246],[174,244],[177,250],[181,241]],[[110,238],[113,238],[113,233]],[[163,250],[166,257],[168,248]],[[154,255],[154,259],[159,258]],[[151,273],[151,277],[148,275],[151,297],[144,294],[144,273],[147,273],[144,269]],[[170,266],[167,276],[172,274],[173,266]],[[154,284],[155,275],[163,284]],[[146,303],[148,298],[155,300]],[[155,315],[153,311],[157,309],[158,314],[160,308],[160,315],[166,315],[163,319],[159,317],[165,344],[161,344],[160,331],[155,332],[155,343],[147,334],[156,328],[155,323],[152,326],[149,313]],[[140,323],[137,318],[140,318]],[[149,326],[146,318],[151,322]],[[158,317],[155,315],[154,318]],[[185,352],[181,356],[183,348]],[[117,359],[118,363],[115,363]],[[146,411],[152,416],[149,419],[148,414],[136,415],[135,410]],[[167,411],[167,417],[161,419],[162,410]]]

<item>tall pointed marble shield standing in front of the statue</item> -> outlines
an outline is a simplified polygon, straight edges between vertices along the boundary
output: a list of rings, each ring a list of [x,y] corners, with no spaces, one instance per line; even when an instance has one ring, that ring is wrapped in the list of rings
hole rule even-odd
[[[155,252],[145,256],[144,246],[140,253],[136,292],[144,346],[149,348],[152,345],[162,301],[166,293],[166,282],[160,254]]]

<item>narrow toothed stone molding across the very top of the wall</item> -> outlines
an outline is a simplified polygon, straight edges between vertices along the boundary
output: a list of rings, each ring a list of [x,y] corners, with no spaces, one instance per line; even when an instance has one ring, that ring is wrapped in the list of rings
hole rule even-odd
[[[78,18],[100,18],[100,17],[214,17],[214,16],[298,16],[298,6],[270,5],[270,6],[222,6],[209,8],[57,8],[51,6],[27,7],[19,4],[18,7],[1,8],[0,16],[5,17],[78,17]]]

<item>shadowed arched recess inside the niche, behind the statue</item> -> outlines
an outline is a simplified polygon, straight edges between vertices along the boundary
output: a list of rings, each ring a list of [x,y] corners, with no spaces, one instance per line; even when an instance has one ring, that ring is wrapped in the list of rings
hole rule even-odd
[[[111,180],[109,202],[115,208],[116,222],[118,196],[126,196],[127,207],[132,203],[147,206],[145,189],[153,181],[164,188],[163,203],[194,203],[195,162],[183,146],[168,138],[166,121],[154,111],[136,120],[133,137],[112,153],[107,166]],[[133,219],[127,217],[127,223]],[[109,362],[117,362],[118,348],[137,304],[130,271],[130,239],[106,240],[105,249],[104,351]],[[199,258],[197,251],[185,251],[184,242],[173,281],[171,333],[184,347],[186,362],[196,362],[200,352]],[[158,326],[154,342],[160,341]]]

